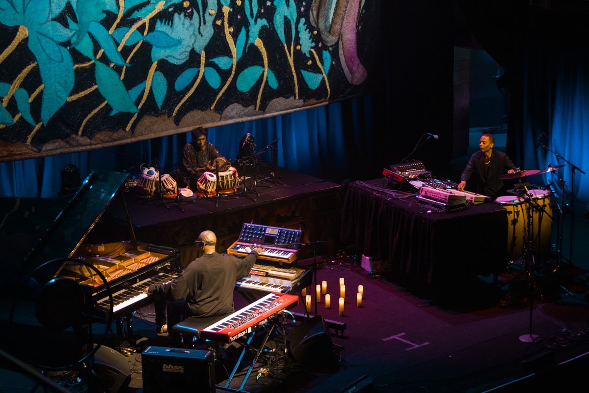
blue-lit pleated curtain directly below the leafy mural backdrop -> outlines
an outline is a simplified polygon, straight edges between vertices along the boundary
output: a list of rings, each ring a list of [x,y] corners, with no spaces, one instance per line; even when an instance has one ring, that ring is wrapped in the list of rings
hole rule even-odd
[[[259,160],[273,161],[277,166],[322,179],[345,180],[353,175],[348,159],[350,143],[356,152],[354,157],[375,156],[372,144],[355,143],[372,127],[370,100],[355,98],[346,103],[213,127],[209,128],[208,140],[231,159],[239,153],[241,137],[250,133],[256,153],[262,152]],[[343,124],[342,108],[353,108],[347,114],[352,118],[349,124]],[[61,171],[67,164],[78,167],[82,180],[90,171],[99,169],[138,174],[142,164],[160,166],[162,173],[171,173],[180,164],[182,147],[187,141],[190,133],[181,133],[119,147],[0,163],[0,196],[55,197],[62,187]]]

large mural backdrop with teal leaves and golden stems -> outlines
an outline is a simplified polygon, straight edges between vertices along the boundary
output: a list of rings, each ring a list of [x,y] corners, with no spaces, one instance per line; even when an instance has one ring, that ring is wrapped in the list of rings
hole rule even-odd
[[[374,11],[364,0],[0,0],[0,161],[364,93]]]

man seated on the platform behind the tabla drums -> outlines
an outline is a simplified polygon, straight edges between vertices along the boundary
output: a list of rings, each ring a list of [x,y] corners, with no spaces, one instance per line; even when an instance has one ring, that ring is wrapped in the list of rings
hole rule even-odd
[[[190,189],[197,191],[196,184],[206,171],[213,171],[215,158],[223,158],[214,145],[207,141],[207,130],[203,127],[190,131],[192,141],[184,145],[182,164],[188,173]],[[224,160],[224,158],[223,158]]]

